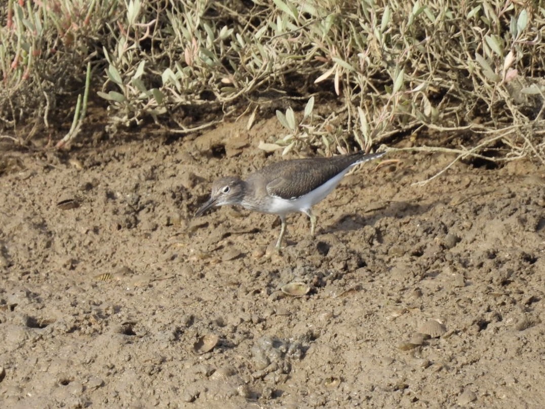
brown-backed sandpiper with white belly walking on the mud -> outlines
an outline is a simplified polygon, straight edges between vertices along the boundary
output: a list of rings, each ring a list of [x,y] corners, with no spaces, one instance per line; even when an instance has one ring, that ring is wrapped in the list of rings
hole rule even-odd
[[[276,242],[276,248],[280,249],[286,232],[286,215],[306,214],[314,237],[316,216],[312,213],[312,206],[325,199],[354,166],[378,159],[385,153],[360,151],[333,157],[284,160],[250,173],[244,180],[237,176],[219,178],[212,184],[210,199],[197,210],[195,217],[226,204],[276,214],[281,222]]]

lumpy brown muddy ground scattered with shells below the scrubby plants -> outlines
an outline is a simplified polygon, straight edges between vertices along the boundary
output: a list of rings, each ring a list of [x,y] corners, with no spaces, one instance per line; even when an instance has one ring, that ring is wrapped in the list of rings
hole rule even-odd
[[[543,167],[421,187],[453,157],[391,153],[280,253],[274,216],[191,221],[214,178],[281,160],[257,149],[278,132],[3,146],[0,407],[542,407]]]

